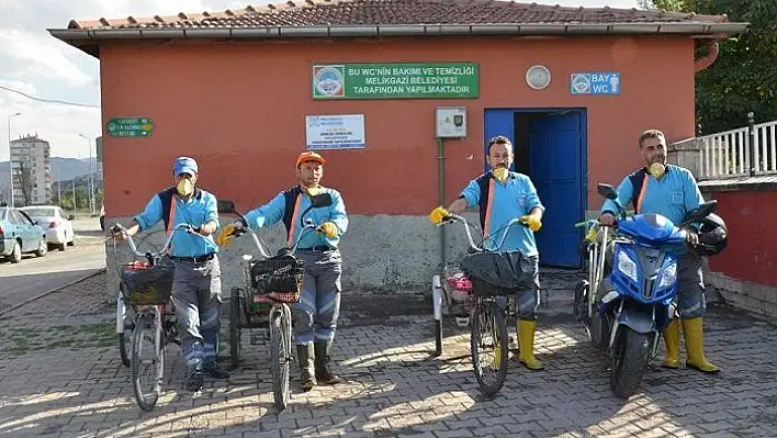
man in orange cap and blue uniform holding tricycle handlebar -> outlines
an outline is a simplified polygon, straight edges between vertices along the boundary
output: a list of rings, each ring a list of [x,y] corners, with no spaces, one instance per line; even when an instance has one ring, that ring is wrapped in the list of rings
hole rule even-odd
[[[294,342],[303,390],[311,390],[317,383],[340,382],[327,363],[340,314],[342,256],[338,246],[348,229],[348,215],[340,193],[319,184],[325,162],[315,151],[300,154],[295,170],[297,184],[248,212],[248,224],[237,221],[226,225],[216,239],[219,245],[228,245],[235,228],[246,225],[261,228],[283,222],[286,245],[291,248],[303,231],[299,215],[311,205],[311,196],[318,193],[329,193],[331,196],[329,206],[312,209],[305,215],[305,220],[309,218],[317,225],[318,233],[307,233],[302,237],[296,251],[296,257],[304,261],[302,294],[300,302],[293,306]]]

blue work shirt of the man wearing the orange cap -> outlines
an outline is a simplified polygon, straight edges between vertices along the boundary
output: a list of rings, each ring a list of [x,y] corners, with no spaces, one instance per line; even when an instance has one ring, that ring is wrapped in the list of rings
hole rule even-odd
[[[304,236],[302,236],[299,248],[312,248],[315,246],[329,246],[331,248],[337,248],[340,243],[340,236],[348,229],[346,204],[342,202],[342,196],[340,193],[335,189],[324,187],[320,188],[319,193],[329,193],[331,196],[331,205],[311,209],[305,214],[304,218],[311,218],[316,226],[325,222],[334,223],[338,229],[337,236],[327,237],[324,233],[308,231],[305,232]],[[295,216],[291,218],[291,224],[286,224],[290,225],[289,233],[286,234],[286,246],[289,248],[293,247],[297,238],[300,238],[300,233],[303,228],[300,224],[299,215],[302,214],[309,205],[311,196],[303,192],[300,196],[300,205],[296,207]],[[248,221],[248,225],[250,227],[261,228],[277,224],[282,221],[284,216],[286,216],[286,196],[283,192],[281,192],[269,203],[248,212],[246,214],[246,221]]]

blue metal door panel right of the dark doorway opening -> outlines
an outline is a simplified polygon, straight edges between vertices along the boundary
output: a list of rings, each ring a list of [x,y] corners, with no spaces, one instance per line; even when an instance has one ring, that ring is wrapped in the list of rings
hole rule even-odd
[[[576,110],[538,114],[529,128],[529,177],[545,206],[542,229],[534,236],[540,262],[581,267],[574,223],[584,217],[584,121]]]

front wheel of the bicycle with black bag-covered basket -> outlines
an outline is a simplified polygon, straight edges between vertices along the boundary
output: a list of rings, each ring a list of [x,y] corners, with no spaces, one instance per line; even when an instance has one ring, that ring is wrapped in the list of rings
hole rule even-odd
[[[507,324],[505,313],[491,300],[478,300],[472,315],[472,366],[480,390],[494,395],[507,377]],[[486,359],[485,363],[482,359]]]

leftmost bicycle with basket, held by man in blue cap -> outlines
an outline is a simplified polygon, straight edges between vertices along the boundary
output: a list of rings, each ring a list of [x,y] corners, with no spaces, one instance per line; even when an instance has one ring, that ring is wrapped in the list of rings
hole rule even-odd
[[[190,224],[177,225],[167,238],[161,250],[156,252],[140,252],[135,246],[132,236],[126,234],[126,228],[115,224],[112,234],[125,233],[131,250],[146,261],[133,261],[122,265],[123,270],[116,265],[120,279],[119,300],[116,304],[116,330],[119,332],[120,352],[122,362],[132,369],[133,393],[137,405],[143,411],[151,411],[156,406],[165,371],[165,349],[169,344],[180,347],[176,308],[170,300],[172,295],[172,281],[176,267],[165,257],[172,244],[176,232],[183,231],[189,234],[199,234],[199,228]],[[204,238],[204,236],[203,236]],[[115,252],[115,239],[114,239]],[[132,349],[127,355],[126,323],[127,305],[132,310]],[[144,340],[150,341],[151,348],[144,348]],[[127,358],[128,356],[128,358]],[[127,359],[125,361],[125,358]],[[130,362],[128,364],[126,362]],[[151,379],[150,391],[144,392],[140,381],[140,366],[150,362],[155,371]]]

